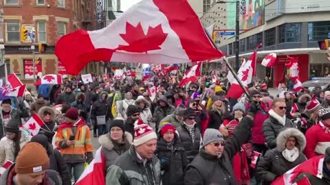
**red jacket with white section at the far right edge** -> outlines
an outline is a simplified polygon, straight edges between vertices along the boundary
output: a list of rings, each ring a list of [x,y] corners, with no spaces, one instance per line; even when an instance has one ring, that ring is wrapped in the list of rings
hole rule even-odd
[[[323,125],[322,122],[320,123]],[[310,127],[305,134],[306,147],[304,153],[307,158],[324,155],[325,149],[330,147],[330,127],[325,125],[322,127],[320,123]]]

